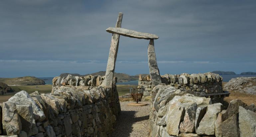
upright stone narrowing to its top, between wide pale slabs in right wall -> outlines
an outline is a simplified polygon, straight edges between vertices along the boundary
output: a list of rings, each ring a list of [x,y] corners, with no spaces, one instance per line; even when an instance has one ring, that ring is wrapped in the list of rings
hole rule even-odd
[[[195,112],[197,109],[196,103],[193,103],[185,109],[184,120],[180,124],[181,133],[193,133],[195,130]]]

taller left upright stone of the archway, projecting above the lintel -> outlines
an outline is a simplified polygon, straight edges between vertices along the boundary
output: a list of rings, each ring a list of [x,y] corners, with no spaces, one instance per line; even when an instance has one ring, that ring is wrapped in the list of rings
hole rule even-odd
[[[123,13],[119,13],[117,22],[116,22],[116,28],[121,27],[122,18],[123,18]],[[114,72],[115,72],[115,64],[116,64],[116,56],[117,56],[117,51],[118,51],[119,37],[120,37],[119,34],[115,34],[115,33],[112,34],[105,79],[102,82],[101,86],[109,86],[109,87],[112,86]]]

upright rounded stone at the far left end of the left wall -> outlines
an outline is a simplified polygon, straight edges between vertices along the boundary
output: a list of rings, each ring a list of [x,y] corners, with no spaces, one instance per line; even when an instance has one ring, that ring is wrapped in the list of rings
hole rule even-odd
[[[3,103],[2,114],[3,131],[7,135],[17,135],[21,131],[21,121],[13,102],[7,101]]]

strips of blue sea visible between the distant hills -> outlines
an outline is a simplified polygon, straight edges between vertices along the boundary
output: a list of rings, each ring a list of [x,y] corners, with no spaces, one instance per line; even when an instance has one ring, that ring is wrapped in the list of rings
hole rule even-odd
[[[223,78],[223,82],[228,82],[232,78],[237,77],[256,77],[256,75],[220,75]],[[45,81],[46,85],[52,85],[53,77],[39,78]],[[138,85],[138,80],[127,81],[127,82],[118,82],[117,85]]]

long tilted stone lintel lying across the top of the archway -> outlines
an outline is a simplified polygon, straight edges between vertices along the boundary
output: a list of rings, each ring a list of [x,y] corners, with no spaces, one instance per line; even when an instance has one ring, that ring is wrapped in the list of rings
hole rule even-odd
[[[126,37],[131,37],[131,38],[137,38],[137,39],[158,39],[159,37],[155,34],[149,34],[149,33],[144,33],[144,32],[138,32],[135,30],[130,30],[130,29],[125,29],[125,28],[114,28],[114,27],[109,27],[106,29],[107,32],[109,33],[116,33],[122,36]]]

